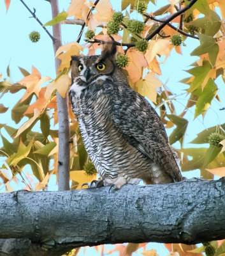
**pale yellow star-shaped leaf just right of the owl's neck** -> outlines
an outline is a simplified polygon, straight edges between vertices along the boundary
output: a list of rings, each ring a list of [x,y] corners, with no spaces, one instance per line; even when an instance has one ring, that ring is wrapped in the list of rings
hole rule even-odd
[[[138,93],[148,97],[152,102],[156,102],[156,89],[163,86],[163,83],[156,78],[154,72],[149,72],[143,79],[135,83]]]

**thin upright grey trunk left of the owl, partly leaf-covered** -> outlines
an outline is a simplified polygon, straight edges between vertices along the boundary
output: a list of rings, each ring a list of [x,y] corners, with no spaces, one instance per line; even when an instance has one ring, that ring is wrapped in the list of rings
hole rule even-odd
[[[52,19],[59,13],[58,0],[50,1],[52,8]],[[54,53],[62,45],[61,24],[52,26],[55,42],[53,43]],[[55,72],[57,72],[61,61],[55,58]],[[62,98],[59,92],[57,95],[57,111],[59,119],[59,157],[58,157],[58,189],[59,191],[69,189],[69,110],[68,96]]]

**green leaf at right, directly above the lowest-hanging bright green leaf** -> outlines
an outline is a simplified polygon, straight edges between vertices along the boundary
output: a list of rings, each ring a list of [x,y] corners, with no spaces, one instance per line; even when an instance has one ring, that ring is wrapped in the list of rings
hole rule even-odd
[[[187,70],[188,73],[194,76],[194,80],[191,82],[190,88],[187,90],[187,92],[193,92],[198,87],[201,87],[201,84],[205,80],[205,77],[207,76],[208,72],[210,72],[211,68],[211,64],[204,60],[202,66]]]

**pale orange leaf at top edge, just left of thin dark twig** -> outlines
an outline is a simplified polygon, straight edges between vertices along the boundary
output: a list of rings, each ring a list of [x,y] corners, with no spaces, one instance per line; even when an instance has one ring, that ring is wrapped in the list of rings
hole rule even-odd
[[[89,6],[87,1],[84,0],[72,0],[67,10],[68,17],[75,16],[75,19],[82,19],[87,21],[87,14],[89,13]]]

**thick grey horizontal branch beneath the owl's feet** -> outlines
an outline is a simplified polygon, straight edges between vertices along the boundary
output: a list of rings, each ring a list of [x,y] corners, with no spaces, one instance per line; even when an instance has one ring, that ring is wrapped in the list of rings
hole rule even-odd
[[[48,252],[38,255],[106,243],[196,244],[225,238],[225,179],[108,190],[2,194],[0,238],[29,239]]]

